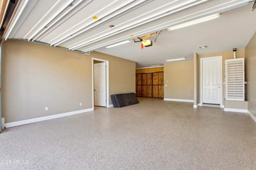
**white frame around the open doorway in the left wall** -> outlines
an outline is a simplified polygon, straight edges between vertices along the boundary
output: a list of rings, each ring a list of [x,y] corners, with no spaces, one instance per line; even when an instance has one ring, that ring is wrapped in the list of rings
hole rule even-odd
[[[109,61],[92,58],[92,108],[94,109],[94,60],[102,61],[106,63],[106,107],[110,107],[109,105]]]

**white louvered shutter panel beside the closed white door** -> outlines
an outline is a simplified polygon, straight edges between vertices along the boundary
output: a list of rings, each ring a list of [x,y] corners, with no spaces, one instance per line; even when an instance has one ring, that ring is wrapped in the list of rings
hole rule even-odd
[[[225,100],[244,101],[244,58],[225,60]]]

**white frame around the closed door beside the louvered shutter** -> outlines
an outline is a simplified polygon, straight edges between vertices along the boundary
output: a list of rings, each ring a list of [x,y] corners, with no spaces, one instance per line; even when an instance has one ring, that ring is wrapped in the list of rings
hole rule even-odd
[[[212,59],[219,59],[220,60],[220,107],[224,108],[223,105],[223,78],[222,78],[222,56],[217,56],[217,57],[206,57],[206,58],[201,58],[200,59],[200,103],[199,106],[203,106],[203,61],[204,60],[212,60]]]

